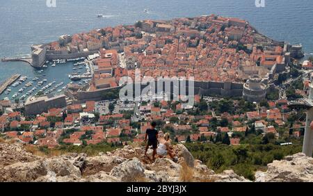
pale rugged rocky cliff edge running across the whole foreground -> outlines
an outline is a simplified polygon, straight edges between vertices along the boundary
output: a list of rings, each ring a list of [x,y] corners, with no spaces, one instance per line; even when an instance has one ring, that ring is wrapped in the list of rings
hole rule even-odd
[[[119,182],[119,181],[248,181],[232,170],[216,174],[195,160],[184,145],[174,147],[179,161],[157,158],[154,163],[143,156],[143,148],[125,146],[98,156],[65,154],[35,156],[20,143],[0,144],[0,181]],[[151,151],[149,152],[151,154]],[[257,172],[256,181],[313,181],[313,158],[303,154],[287,156]]]

